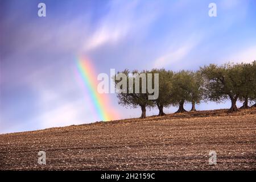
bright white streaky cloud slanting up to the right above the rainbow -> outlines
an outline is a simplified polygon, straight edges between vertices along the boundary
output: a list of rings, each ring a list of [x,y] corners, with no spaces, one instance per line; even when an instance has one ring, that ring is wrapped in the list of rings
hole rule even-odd
[[[109,6],[108,14],[100,20],[89,39],[85,40],[85,51],[118,43],[128,35],[135,35],[141,28],[146,32],[158,14],[157,10],[151,11],[152,7],[146,5],[140,7],[141,12],[137,11],[138,1],[111,1]]]

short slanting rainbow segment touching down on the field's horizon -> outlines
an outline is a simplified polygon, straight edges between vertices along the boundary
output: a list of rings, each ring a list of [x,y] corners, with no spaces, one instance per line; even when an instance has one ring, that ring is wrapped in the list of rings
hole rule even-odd
[[[89,59],[77,59],[76,67],[83,84],[89,92],[93,106],[101,121],[111,121],[116,119],[117,114],[111,108],[107,95],[97,92],[98,80],[94,73],[95,69]]]

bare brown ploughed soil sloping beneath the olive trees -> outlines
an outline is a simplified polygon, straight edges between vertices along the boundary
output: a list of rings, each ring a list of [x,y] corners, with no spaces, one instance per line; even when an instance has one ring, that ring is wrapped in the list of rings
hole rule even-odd
[[[255,170],[256,108],[195,111],[146,119],[0,135],[0,169]],[[210,166],[209,151],[217,152]],[[46,165],[38,152],[46,151]]]

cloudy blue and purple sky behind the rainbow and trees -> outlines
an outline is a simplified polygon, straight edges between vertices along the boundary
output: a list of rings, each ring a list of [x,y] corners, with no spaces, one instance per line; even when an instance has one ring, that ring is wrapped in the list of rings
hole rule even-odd
[[[45,17],[38,16],[40,2]],[[216,17],[208,15],[212,2]],[[112,68],[195,71],[210,63],[250,62],[256,60],[255,20],[254,0],[0,0],[0,133],[100,121],[77,78],[79,57],[86,56],[96,74],[108,75]],[[119,106],[115,94],[108,98],[118,113],[113,119],[141,115]],[[147,109],[152,114],[158,110]]]

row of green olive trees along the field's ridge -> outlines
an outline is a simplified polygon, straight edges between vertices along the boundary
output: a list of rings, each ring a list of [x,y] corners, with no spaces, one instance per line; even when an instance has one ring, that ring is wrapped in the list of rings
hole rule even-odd
[[[123,71],[129,82],[130,72]],[[132,75],[138,73],[159,73],[159,96],[156,100],[148,100],[150,93],[134,93],[135,82],[122,88],[127,89],[126,93],[117,94],[119,104],[123,106],[141,107],[141,118],[146,117],[146,107],[155,107],[159,109],[159,115],[165,115],[163,108],[179,106],[176,113],[183,113],[184,104],[192,104],[191,111],[195,111],[195,105],[201,101],[221,102],[229,99],[232,106],[229,112],[237,111],[237,100],[243,102],[241,109],[249,108],[249,102],[256,101],[256,61],[253,63],[241,64],[210,64],[201,67],[199,71],[179,71],[172,72],[165,69],[152,69],[151,71],[133,71]],[[154,74],[152,74],[154,76]],[[134,77],[134,76],[133,76]],[[139,77],[140,79],[140,77]],[[146,80],[147,81],[147,80]],[[115,80],[116,85],[118,81]],[[153,83],[154,86],[154,83]],[[140,91],[142,88],[140,87]],[[254,104],[253,106],[256,106]]]

